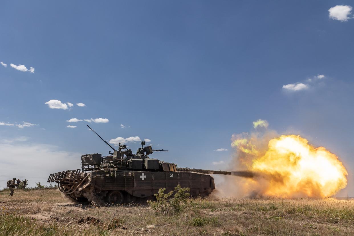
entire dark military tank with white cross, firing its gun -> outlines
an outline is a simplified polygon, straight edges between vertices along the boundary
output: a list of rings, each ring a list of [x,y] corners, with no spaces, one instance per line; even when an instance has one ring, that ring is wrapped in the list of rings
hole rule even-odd
[[[231,174],[226,171],[178,168],[174,163],[150,158],[153,152],[168,150],[152,149],[152,146],[145,146],[145,142],[141,142],[141,148],[133,154],[126,145],[119,143],[118,150],[115,150],[102,140],[113,149],[113,153],[109,151],[108,156],[98,153],[82,155],[81,169],[50,174],[48,182],[57,183],[65,196],[77,202],[104,205],[140,203],[153,199],[160,188],[173,191],[177,185],[188,187],[192,197],[207,196],[215,189],[210,174]]]

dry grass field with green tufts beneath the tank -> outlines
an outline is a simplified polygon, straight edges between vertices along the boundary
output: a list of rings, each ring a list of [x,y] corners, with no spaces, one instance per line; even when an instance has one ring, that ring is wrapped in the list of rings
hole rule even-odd
[[[354,235],[353,200],[206,198],[164,215],[148,205],[75,205],[56,189],[7,194],[0,235]]]

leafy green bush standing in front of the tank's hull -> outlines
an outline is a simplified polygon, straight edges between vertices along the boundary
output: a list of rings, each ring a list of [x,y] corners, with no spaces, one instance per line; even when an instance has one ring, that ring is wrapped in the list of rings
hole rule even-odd
[[[149,205],[157,213],[168,214],[169,212],[182,212],[188,205],[189,188],[181,188],[177,185],[175,194],[170,191],[165,194],[166,188],[159,189],[155,194],[156,201],[148,201]]]

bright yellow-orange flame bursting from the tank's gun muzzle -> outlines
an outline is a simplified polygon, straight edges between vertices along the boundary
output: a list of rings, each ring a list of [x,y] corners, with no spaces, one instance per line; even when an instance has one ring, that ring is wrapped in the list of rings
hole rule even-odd
[[[271,139],[268,148],[257,150],[255,139],[233,136],[232,146],[242,163],[258,175],[247,180],[249,188],[264,196],[329,197],[347,185],[348,172],[335,154],[314,148],[296,135]]]

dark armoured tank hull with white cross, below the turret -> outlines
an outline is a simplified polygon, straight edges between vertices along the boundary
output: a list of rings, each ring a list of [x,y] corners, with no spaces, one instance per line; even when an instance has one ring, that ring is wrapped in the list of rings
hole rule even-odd
[[[55,182],[59,190],[76,201],[101,204],[138,203],[153,199],[161,188],[169,192],[177,185],[189,188],[192,197],[208,196],[215,189],[213,177],[192,172],[99,170]]]

